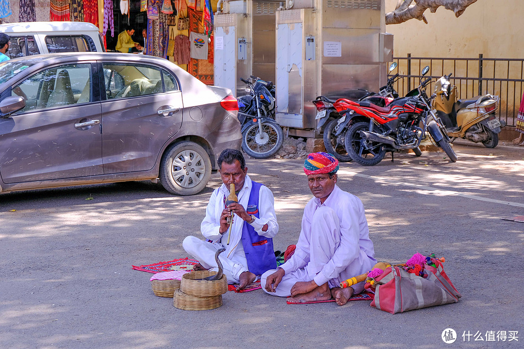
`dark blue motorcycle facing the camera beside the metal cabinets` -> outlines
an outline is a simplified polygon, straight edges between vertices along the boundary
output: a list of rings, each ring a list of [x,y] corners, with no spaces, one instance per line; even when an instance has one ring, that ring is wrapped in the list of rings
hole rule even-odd
[[[282,128],[275,121],[275,94],[273,84],[250,76],[240,78],[247,86],[248,95],[239,96],[238,120],[242,127],[242,149],[256,159],[274,155],[283,143]]]

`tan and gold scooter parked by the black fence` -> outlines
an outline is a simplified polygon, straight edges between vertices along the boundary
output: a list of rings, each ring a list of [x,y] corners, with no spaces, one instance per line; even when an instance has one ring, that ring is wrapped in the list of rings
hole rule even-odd
[[[436,81],[436,97],[432,100],[436,115],[444,122],[447,136],[451,137],[451,142],[464,138],[482,142],[486,148],[495,148],[498,133],[506,126],[506,122],[495,115],[498,96],[486,94],[457,100],[457,88],[451,84],[450,77],[451,73]]]

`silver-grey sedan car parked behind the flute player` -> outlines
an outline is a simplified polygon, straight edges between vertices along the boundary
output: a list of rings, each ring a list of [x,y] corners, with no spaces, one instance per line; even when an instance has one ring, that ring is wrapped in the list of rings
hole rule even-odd
[[[0,192],[150,179],[192,195],[240,149],[238,105],[165,59],[57,53],[0,63]]]

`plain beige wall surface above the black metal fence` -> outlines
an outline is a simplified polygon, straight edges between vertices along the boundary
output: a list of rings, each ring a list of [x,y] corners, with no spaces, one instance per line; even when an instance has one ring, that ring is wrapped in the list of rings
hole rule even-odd
[[[395,9],[397,0],[385,0],[386,12]],[[456,18],[439,7],[426,10],[428,24],[410,19],[386,26],[394,34],[395,57],[408,53],[417,57],[524,58],[524,1],[477,0]]]

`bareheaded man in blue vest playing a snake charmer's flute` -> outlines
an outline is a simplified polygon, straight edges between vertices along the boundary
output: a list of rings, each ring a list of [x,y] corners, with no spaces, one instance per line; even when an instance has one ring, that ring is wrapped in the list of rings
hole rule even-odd
[[[217,270],[215,253],[219,255],[229,284],[238,283],[242,290],[269,269],[277,267],[272,238],[278,232],[274,198],[271,190],[256,183],[247,175],[244,156],[235,149],[224,150],[217,160],[223,184],[214,190],[209,199],[205,218],[200,224],[207,240],[189,236],[184,239],[184,250],[200,263],[195,270]],[[238,202],[226,207],[230,184],[235,184]],[[231,238],[227,219],[233,211]],[[229,244],[227,244],[229,240]]]

